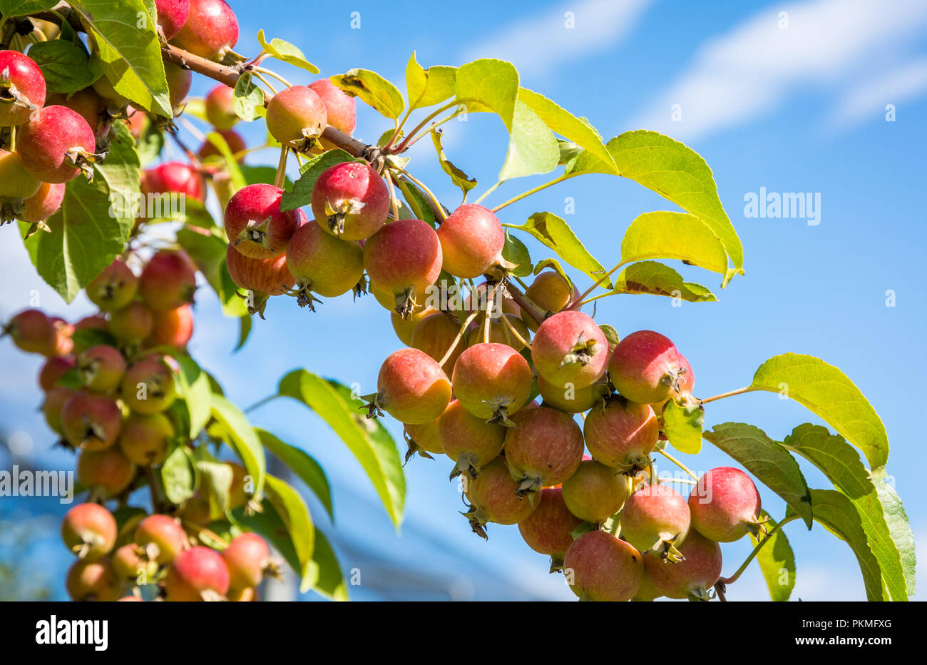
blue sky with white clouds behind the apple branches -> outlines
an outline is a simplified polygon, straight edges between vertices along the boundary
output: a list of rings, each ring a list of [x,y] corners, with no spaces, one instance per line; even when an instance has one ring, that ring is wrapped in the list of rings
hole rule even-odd
[[[475,2],[446,13],[434,3],[356,2],[360,29],[351,28],[352,19],[357,24],[351,10],[328,5],[272,0],[232,6],[241,23],[236,48],[241,53],[257,52],[256,34],[263,28],[268,37],[302,47],[324,75],[362,67],[403,90],[413,49],[425,67],[505,58],[519,68],[523,85],[586,116],[606,138],[654,129],[697,150],[715,173],[718,193],[743,240],[746,275],[720,290],[717,275],[679,268],[687,279],[715,290],[719,301],[674,308],[667,299],[613,297],[598,301],[596,319],[622,335],[652,328],[674,339],[692,363],[695,393],[702,397],[746,385],[759,364],[781,352],[810,353],[842,368],[883,417],[892,446],[888,472],[923,550],[924,454],[920,428],[912,422],[920,411],[916,395],[927,324],[920,287],[925,214],[917,194],[923,190],[921,152],[927,138],[927,6],[922,2],[585,0],[504,7]],[[570,29],[565,28],[568,12],[575,26]],[[315,78],[280,70],[294,83]],[[197,80],[194,94],[209,89],[209,82]],[[886,120],[886,105],[894,105],[894,121]],[[360,109],[355,134],[375,141],[389,124]],[[246,132],[255,141],[261,133],[257,125]],[[471,115],[466,123],[446,125],[449,157],[477,178],[477,193],[495,182],[505,147],[504,128],[494,116]],[[419,143],[412,156],[413,173],[456,205],[459,190],[438,169],[430,143]],[[275,156],[258,154],[250,163],[275,164]],[[540,182],[507,183],[488,201],[501,202]],[[819,224],[746,218],[744,196],[761,187],[818,193]],[[617,262],[621,237],[634,217],[674,210],[632,182],[592,175],[510,206],[502,221],[521,224],[535,211],[563,214],[565,198],[575,200],[575,214],[567,221],[605,265]],[[550,255],[537,243],[527,244],[535,260]],[[18,243],[4,243],[0,260],[8,286],[0,295],[4,318],[26,306],[32,289],[40,290],[52,312],[77,318],[88,309],[83,296],[66,307],[44,287]],[[887,291],[895,293],[894,307],[886,306]],[[375,301],[354,303],[349,297],[326,301],[314,314],[298,310],[293,301],[272,301],[267,320],[256,322],[246,348],[231,355],[236,334],[235,322],[223,320],[217,302],[204,293],[191,352],[243,405],[272,392],[277,377],[296,366],[373,391],[379,364],[399,347]],[[37,361],[0,342],[0,366],[3,428],[27,432],[43,463],[67,465],[67,457],[47,452],[51,437],[32,412],[38,389],[32,379],[20,378],[31,376]],[[767,393],[712,403],[706,411],[708,425],[747,422],[776,439],[800,423],[819,422],[798,404]],[[410,578],[438,580],[454,590],[454,597],[499,597],[502,592],[487,583],[491,580],[507,584],[512,595],[572,597],[561,577],[548,575],[545,557],[521,543],[514,527],[490,527],[489,543],[470,533],[457,515],[459,493],[446,481],[447,460],[415,459],[406,467],[407,518],[398,536],[359,465],[317,417],[295,403],[273,403],[255,412],[253,420],[304,447],[328,471],[336,486],[344,569],[359,565],[366,553],[406,569]],[[399,438],[400,428],[389,427]],[[730,458],[706,444],[703,454],[687,463],[705,470]],[[811,486],[828,487],[819,473],[804,467]],[[764,488],[761,493],[764,507],[781,516],[781,500]],[[321,511],[316,515],[331,531]],[[797,557],[794,599],[864,597],[857,563],[845,544],[819,527],[807,532],[796,523],[787,533]],[[726,546],[725,574],[748,551],[743,542]],[[921,584],[927,582],[919,577]],[[365,583],[351,593],[378,597]],[[730,587],[729,597],[766,597],[756,568]]]

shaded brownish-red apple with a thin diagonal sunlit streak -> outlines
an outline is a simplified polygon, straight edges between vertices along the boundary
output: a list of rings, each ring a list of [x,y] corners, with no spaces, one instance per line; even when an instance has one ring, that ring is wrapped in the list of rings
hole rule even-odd
[[[583,424],[592,457],[606,467],[629,473],[647,466],[659,430],[650,404],[629,402],[620,396],[609,398],[602,408],[592,409]]]

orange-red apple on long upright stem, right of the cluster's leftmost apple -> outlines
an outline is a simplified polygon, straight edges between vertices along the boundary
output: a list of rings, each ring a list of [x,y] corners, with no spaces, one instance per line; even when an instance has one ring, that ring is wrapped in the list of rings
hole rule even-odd
[[[508,416],[531,395],[531,368],[512,347],[492,342],[476,344],[457,359],[454,394],[476,417],[511,425]]]

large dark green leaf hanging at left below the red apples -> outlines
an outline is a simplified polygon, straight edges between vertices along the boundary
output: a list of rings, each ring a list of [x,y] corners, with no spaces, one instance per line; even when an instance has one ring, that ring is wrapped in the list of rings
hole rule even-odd
[[[125,249],[135,223],[138,154],[121,122],[111,131],[112,145],[105,162],[94,167],[94,182],[83,176],[71,180],[61,208],[47,221],[51,233],[25,241],[39,275],[67,302]]]

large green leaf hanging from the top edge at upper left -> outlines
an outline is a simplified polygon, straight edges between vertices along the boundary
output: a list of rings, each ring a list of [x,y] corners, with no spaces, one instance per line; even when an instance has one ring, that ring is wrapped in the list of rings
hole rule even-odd
[[[161,46],[155,31],[154,4],[143,0],[73,0],[103,73],[116,92],[133,105],[172,115]]]

